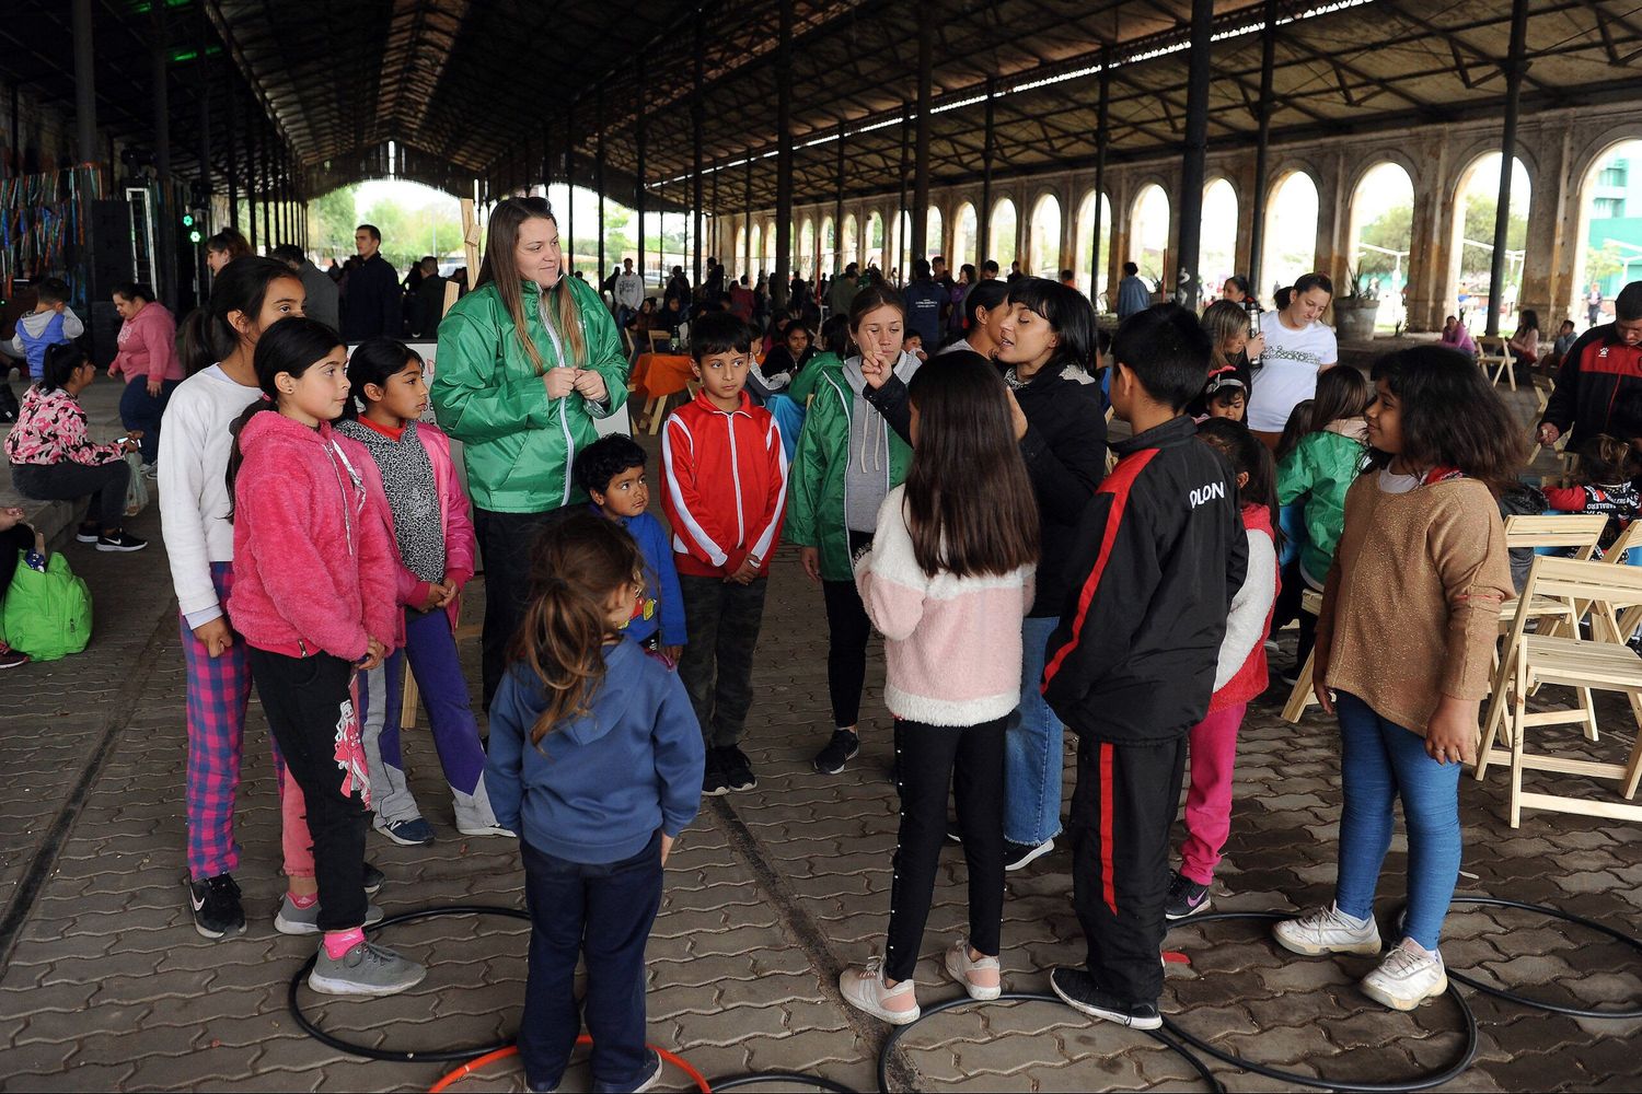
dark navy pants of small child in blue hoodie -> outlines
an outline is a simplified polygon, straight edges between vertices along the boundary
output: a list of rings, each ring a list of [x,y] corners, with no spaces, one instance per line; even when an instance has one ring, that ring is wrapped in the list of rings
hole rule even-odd
[[[525,833],[521,832],[521,836]],[[644,943],[662,907],[662,833],[619,863],[571,863],[519,840],[530,909],[530,958],[519,1058],[530,1086],[558,1086],[581,1035],[593,1037],[593,1089],[644,1079]],[[586,999],[576,1005],[576,960]]]

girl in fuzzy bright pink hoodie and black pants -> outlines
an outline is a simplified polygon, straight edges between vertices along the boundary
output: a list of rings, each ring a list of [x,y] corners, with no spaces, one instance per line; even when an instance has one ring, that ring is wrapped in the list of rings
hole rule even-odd
[[[346,348],[323,323],[287,318],[251,359],[264,399],[233,425],[228,610],[287,773],[307,804],[323,933],[309,987],[388,996],[420,964],[365,940],[365,750],[353,676],[401,641],[399,556],[381,477],[330,423],[348,400]]]

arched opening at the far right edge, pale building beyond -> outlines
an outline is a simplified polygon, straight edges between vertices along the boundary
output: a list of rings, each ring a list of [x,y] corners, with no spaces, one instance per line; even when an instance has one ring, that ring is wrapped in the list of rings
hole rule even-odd
[[[1642,141],[1621,141],[1591,164],[1580,185],[1578,238],[1568,318],[1585,330],[1612,321],[1614,297],[1642,279]]]

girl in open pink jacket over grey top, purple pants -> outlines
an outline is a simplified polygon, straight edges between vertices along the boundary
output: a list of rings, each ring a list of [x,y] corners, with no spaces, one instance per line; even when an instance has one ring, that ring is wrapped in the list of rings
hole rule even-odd
[[[484,746],[456,656],[456,595],[473,577],[473,522],[450,458],[450,438],[420,422],[427,410],[422,358],[402,341],[371,338],[348,358],[353,400],[337,431],[365,444],[381,471],[399,548],[406,643],[361,681],[360,720],[371,766],[376,828],[399,845],[433,841],[406,782],[399,741],[406,661],[433,730],[433,748],[465,836],[511,836],[484,791]],[[361,405],[365,410],[360,412]]]

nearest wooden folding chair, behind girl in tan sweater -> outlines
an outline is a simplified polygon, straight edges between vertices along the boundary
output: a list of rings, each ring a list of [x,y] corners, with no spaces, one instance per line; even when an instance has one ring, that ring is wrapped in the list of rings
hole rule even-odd
[[[1578,723],[1586,720],[1585,710],[1540,710],[1529,713],[1527,697],[1540,684],[1560,684],[1583,692],[1616,691],[1626,695],[1631,715],[1642,730],[1642,658],[1639,658],[1619,631],[1616,610],[1642,605],[1642,568],[1604,566],[1603,563],[1540,556],[1534,559],[1524,597],[1562,600],[1568,612],[1580,604],[1591,609],[1591,638],[1581,638],[1580,628],[1571,636],[1553,638],[1527,633],[1529,613],[1519,612],[1506,643],[1506,682],[1511,705],[1506,727],[1511,735],[1511,751],[1494,748],[1494,736],[1483,740],[1476,756],[1476,777],[1488,773],[1491,763],[1511,764],[1511,827],[1522,823],[1522,809],[1547,809],[1553,812],[1604,817],[1609,820],[1642,820],[1642,805],[1535,794],[1522,789],[1524,771],[1555,771],[1581,774],[1594,779],[1617,779],[1619,794],[1631,802],[1642,781],[1642,733],[1631,746],[1626,763],[1596,763],[1570,759],[1548,753],[1529,753],[1529,732],[1543,725]]]

